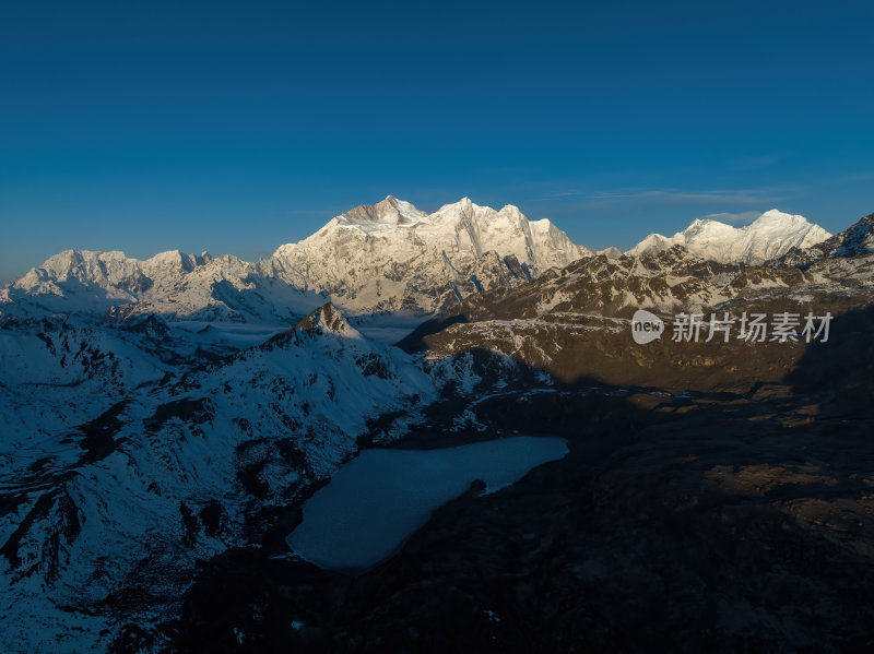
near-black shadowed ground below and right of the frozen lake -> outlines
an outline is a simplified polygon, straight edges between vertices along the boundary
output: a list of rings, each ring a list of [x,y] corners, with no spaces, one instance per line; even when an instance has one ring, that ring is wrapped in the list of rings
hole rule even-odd
[[[874,646],[874,310],[776,383],[671,394],[594,379],[446,397],[393,447],[563,436],[358,578],[245,548],[203,564],[178,652],[847,652]],[[470,353],[488,374],[488,352]],[[495,381],[495,380],[492,380]],[[472,411],[483,431],[450,432]],[[440,437],[442,435],[442,437]],[[442,440],[440,440],[442,438]],[[117,651],[150,637],[131,627]]]

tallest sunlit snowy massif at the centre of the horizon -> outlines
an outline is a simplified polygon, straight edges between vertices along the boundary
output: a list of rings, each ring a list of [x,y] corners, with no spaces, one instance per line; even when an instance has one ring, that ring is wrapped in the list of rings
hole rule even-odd
[[[280,247],[261,266],[356,312],[434,312],[588,253],[548,219],[531,222],[512,205],[495,211],[464,198],[425,214],[389,195]]]

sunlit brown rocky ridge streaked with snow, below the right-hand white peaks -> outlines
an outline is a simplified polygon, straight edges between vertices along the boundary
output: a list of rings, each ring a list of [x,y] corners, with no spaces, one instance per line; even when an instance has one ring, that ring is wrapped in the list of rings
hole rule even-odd
[[[835,237],[830,250],[859,251],[858,245],[842,243],[865,242],[869,218],[860,225],[847,233],[854,238]],[[400,345],[432,358],[471,349],[501,353],[564,381],[740,389],[779,381],[805,352],[796,340],[739,340],[744,312],[765,313],[768,320],[790,312],[801,320],[808,312],[837,316],[872,301],[874,254],[819,258],[802,270],[721,264],[673,246],[657,254],[583,258],[523,287],[480,294],[423,324]],[[638,309],[666,322],[664,335],[645,346],[630,337],[629,319]],[[728,316],[735,334],[727,343],[705,343],[705,324],[701,343],[675,342],[674,317],[681,312],[699,313],[705,323],[711,316]]]

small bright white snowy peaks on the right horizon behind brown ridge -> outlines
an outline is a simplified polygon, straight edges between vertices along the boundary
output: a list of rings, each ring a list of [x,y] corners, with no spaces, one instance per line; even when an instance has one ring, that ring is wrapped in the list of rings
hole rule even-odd
[[[670,238],[650,234],[626,254],[639,257],[683,246],[689,252],[711,261],[758,264],[781,257],[792,248],[808,248],[830,236],[804,216],[772,209],[740,228],[719,221],[698,219]]]

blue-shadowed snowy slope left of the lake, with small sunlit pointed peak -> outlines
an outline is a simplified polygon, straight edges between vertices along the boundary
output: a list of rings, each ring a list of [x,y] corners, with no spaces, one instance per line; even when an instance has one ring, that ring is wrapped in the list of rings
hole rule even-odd
[[[331,305],[211,365],[146,340],[0,330],[3,652],[105,651],[127,621],[172,618],[198,559],[257,539],[369,418],[435,392]]]

